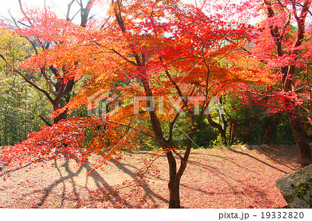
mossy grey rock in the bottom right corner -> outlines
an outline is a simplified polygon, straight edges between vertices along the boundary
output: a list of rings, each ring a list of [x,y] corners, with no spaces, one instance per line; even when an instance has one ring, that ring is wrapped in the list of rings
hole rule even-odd
[[[276,186],[289,207],[312,208],[312,164],[277,179]]]

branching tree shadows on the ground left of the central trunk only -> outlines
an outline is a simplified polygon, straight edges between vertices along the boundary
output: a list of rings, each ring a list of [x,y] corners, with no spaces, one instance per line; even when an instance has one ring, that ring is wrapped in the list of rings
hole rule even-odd
[[[77,161],[77,159],[74,159]],[[155,207],[157,207],[157,202],[155,201],[155,198],[157,200],[160,200],[162,202],[168,203],[168,200],[164,199],[162,196],[157,195],[150,187],[148,187],[147,182],[144,179],[141,179],[139,175],[136,175],[135,173],[132,173],[128,168],[123,165],[123,163],[111,161],[114,163],[114,165],[119,168],[119,170],[123,171],[123,173],[126,173],[132,177],[134,182],[139,183],[137,185],[137,188],[143,188],[144,190],[144,197],[146,197],[148,200],[153,202]],[[78,175],[83,174],[83,168],[87,171],[87,177],[85,179],[92,179],[94,181],[94,184],[96,186],[96,189],[90,189],[86,185],[85,191],[88,193],[89,197],[89,204],[88,206],[92,206],[92,204],[96,204],[98,202],[108,202],[111,206],[108,206],[110,208],[137,208],[139,204],[136,204],[135,206],[132,205],[131,202],[127,198],[124,197],[124,195],[120,195],[119,191],[114,188],[114,186],[110,186],[105,179],[98,173],[98,171],[94,170],[92,166],[89,165],[89,163],[84,163],[82,166],[80,166],[78,169],[73,170],[69,166],[69,157],[65,156],[64,163],[62,163],[62,167],[64,168],[67,175],[63,175],[60,169],[60,165],[58,165],[57,161],[55,160],[54,166],[56,170],[58,170],[59,178],[55,180],[53,183],[49,184],[49,186],[46,186],[42,189],[37,189],[36,191],[32,191],[31,193],[26,193],[24,197],[28,195],[33,195],[35,193],[42,193],[42,197],[40,197],[39,202],[37,202],[33,208],[40,208],[44,206],[46,203],[47,198],[53,193],[53,189],[55,189],[59,184],[62,184],[62,194],[61,194],[61,202],[60,208],[64,208],[64,201],[65,200],[71,200],[72,202],[76,202],[75,207],[80,208],[85,205],[80,204],[83,200],[81,199],[78,190],[77,190],[77,182],[73,180],[74,177],[78,177]],[[136,167],[133,169],[138,170]],[[63,172],[64,173],[64,172]],[[71,184],[71,188],[68,189],[68,186],[66,187],[65,182],[69,182]],[[123,187],[127,188],[127,186]],[[96,192],[98,191],[98,192]],[[55,192],[55,191],[54,191]],[[69,193],[73,193],[73,196],[69,196]],[[99,194],[101,193],[101,194]],[[96,196],[96,197],[95,197]],[[99,199],[98,197],[102,197]],[[69,199],[71,198],[71,199]],[[96,206],[95,206],[96,207]]]

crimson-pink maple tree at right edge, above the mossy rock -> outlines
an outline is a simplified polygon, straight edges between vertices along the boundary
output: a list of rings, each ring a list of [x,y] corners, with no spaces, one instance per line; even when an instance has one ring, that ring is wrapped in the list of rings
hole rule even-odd
[[[245,51],[263,64],[263,69],[275,76],[274,87],[246,87],[254,99],[272,115],[274,129],[279,113],[286,112],[293,136],[300,150],[302,167],[311,163],[311,148],[304,121],[311,123],[311,1],[244,1],[232,5],[236,12],[260,17],[253,42]],[[248,16],[247,16],[248,17]]]

